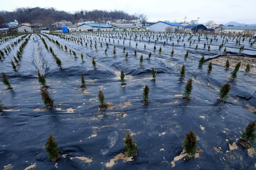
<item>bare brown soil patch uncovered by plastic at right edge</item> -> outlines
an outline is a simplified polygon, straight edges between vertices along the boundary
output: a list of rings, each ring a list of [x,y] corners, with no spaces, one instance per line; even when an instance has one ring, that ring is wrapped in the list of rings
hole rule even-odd
[[[218,58],[215,59],[211,59],[210,61],[213,64],[219,64],[222,66],[225,66],[226,61],[229,61],[230,63],[230,68],[234,69],[236,64],[241,61],[241,66],[240,66],[240,70],[245,70],[246,65],[249,63],[251,66],[251,70],[250,73],[252,74],[256,74],[256,58],[252,58],[252,57],[241,57],[241,56],[220,56]]]

